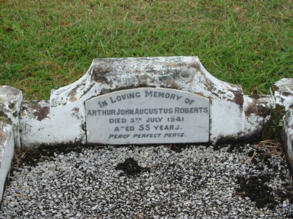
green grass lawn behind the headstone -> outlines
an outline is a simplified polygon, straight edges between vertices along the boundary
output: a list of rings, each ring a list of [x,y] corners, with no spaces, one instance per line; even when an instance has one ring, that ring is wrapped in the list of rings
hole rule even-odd
[[[0,0],[0,85],[26,99],[48,99],[93,58],[170,55],[269,93],[293,77],[293,0]]]

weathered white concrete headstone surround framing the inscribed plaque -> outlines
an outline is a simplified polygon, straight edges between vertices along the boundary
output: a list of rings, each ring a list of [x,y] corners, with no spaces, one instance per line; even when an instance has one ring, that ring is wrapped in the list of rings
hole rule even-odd
[[[146,114],[142,116],[124,115],[123,117],[118,117],[116,114],[111,117],[103,114],[102,116],[93,115],[98,111],[92,110],[100,110],[98,108],[100,107],[99,101],[102,106],[104,106],[103,101],[106,101],[108,105],[105,109],[115,110],[115,113],[119,109],[141,109],[136,102],[131,102],[134,99],[125,101],[117,99],[122,99],[127,92],[135,92],[126,90],[139,88],[145,90],[137,91],[149,89],[153,92],[166,92],[167,90],[163,91],[163,89],[171,89],[168,90],[170,95],[174,94],[175,96],[181,95],[182,92],[182,99],[184,97],[193,98],[194,102],[206,100],[198,106],[192,102],[191,104],[194,104],[194,107],[190,105],[190,108],[194,111],[201,110],[200,108],[208,108],[209,110],[208,112],[192,113],[192,116],[188,116],[188,113],[185,112],[176,113],[178,116],[175,113],[158,116]],[[109,102],[111,101],[110,97],[116,98],[116,102]],[[156,102],[151,102],[155,99]],[[178,100],[179,102],[161,97],[150,98],[147,102],[140,98],[136,100],[142,100],[140,103],[144,109],[159,109],[166,106],[166,108],[174,110],[176,107],[188,108],[187,105],[190,102],[181,103],[182,99]],[[95,104],[97,104],[97,108],[93,109]],[[126,105],[123,106],[123,104]],[[87,109],[88,107],[90,109]],[[31,147],[86,143],[209,142],[217,144],[251,141],[260,138],[261,130],[270,118],[272,107],[271,96],[243,95],[241,86],[226,83],[213,77],[196,56],[94,59],[89,70],[82,78],[68,86],[53,90],[49,101],[23,102],[20,117],[21,144]],[[90,114],[88,114],[88,110],[91,110]],[[177,130],[176,132],[173,130],[169,132],[170,130],[167,130],[167,128],[171,128],[172,123],[168,122],[167,119],[169,118],[169,121],[171,121],[175,119],[175,116],[179,117],[178,120],[180,117],[185,119],[184,122],[174,122],[176,125],[180,125],[182,132],[177,132]],[[141,124],[131,126],[132,118],[141,119],[139,121]],[[110,121],[110,119],[114,120]],[[124,125],[119,126],[119,122],[125,122],[124,119],[126,119],[126,127],[134,127],[135,129],[128,131],[121,129]],[[155,125],[150,125],[152,130],[139,130],[142,127],[146,128],[147,119],[162,119],[162,121],[157,130],[154,127]],[[119,131],[115,131],[115,124],[110,123],[112,121],[117,124]],[[154,123],[156,122],[152,124]],[[143,126],[140,127],[140,125]],[[167,126],[167,128],[161,130],[161,126],[164,128]],[[117,135],[115,132],[117,132]],[[177,133],[177,136],[167,137],[168,133],[171,133],[171,136]],[[178,133],[181,133],[184,137],[179,137],[180,134]],[[127,139],[123,138],[127,134],[130,134]],[[134,136],[134,134],[137,134],[137,136]],[[154,136],[151,134],[161,135],[155,140],[150,137]],[[164,137],[165,135],[166,137]]]

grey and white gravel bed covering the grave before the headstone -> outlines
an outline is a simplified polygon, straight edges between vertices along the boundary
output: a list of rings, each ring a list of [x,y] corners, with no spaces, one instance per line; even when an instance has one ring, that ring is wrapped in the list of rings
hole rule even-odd
[[[27,153],[13,168],[0,219],[292,218],[292,180],[272,148],[94,146]]]

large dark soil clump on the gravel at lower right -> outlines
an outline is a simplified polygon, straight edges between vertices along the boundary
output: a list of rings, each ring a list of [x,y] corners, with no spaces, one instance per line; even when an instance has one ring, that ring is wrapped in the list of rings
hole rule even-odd
[[[255,201],[257,208],[263,208],[267,205],[268,208],[274,209],[277,201],[274,200],[272,195],[272,188],[265,184],[270,180],[270,175],[237,176],[236,179],[240,185],[236,189],[239,195]]]

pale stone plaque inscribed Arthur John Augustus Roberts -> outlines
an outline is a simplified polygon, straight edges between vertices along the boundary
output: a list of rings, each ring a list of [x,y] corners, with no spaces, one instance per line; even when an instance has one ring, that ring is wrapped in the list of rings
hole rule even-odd
[[[115,91],[85,101],[89,144],[209,142],[209,99],[165,88]]]

